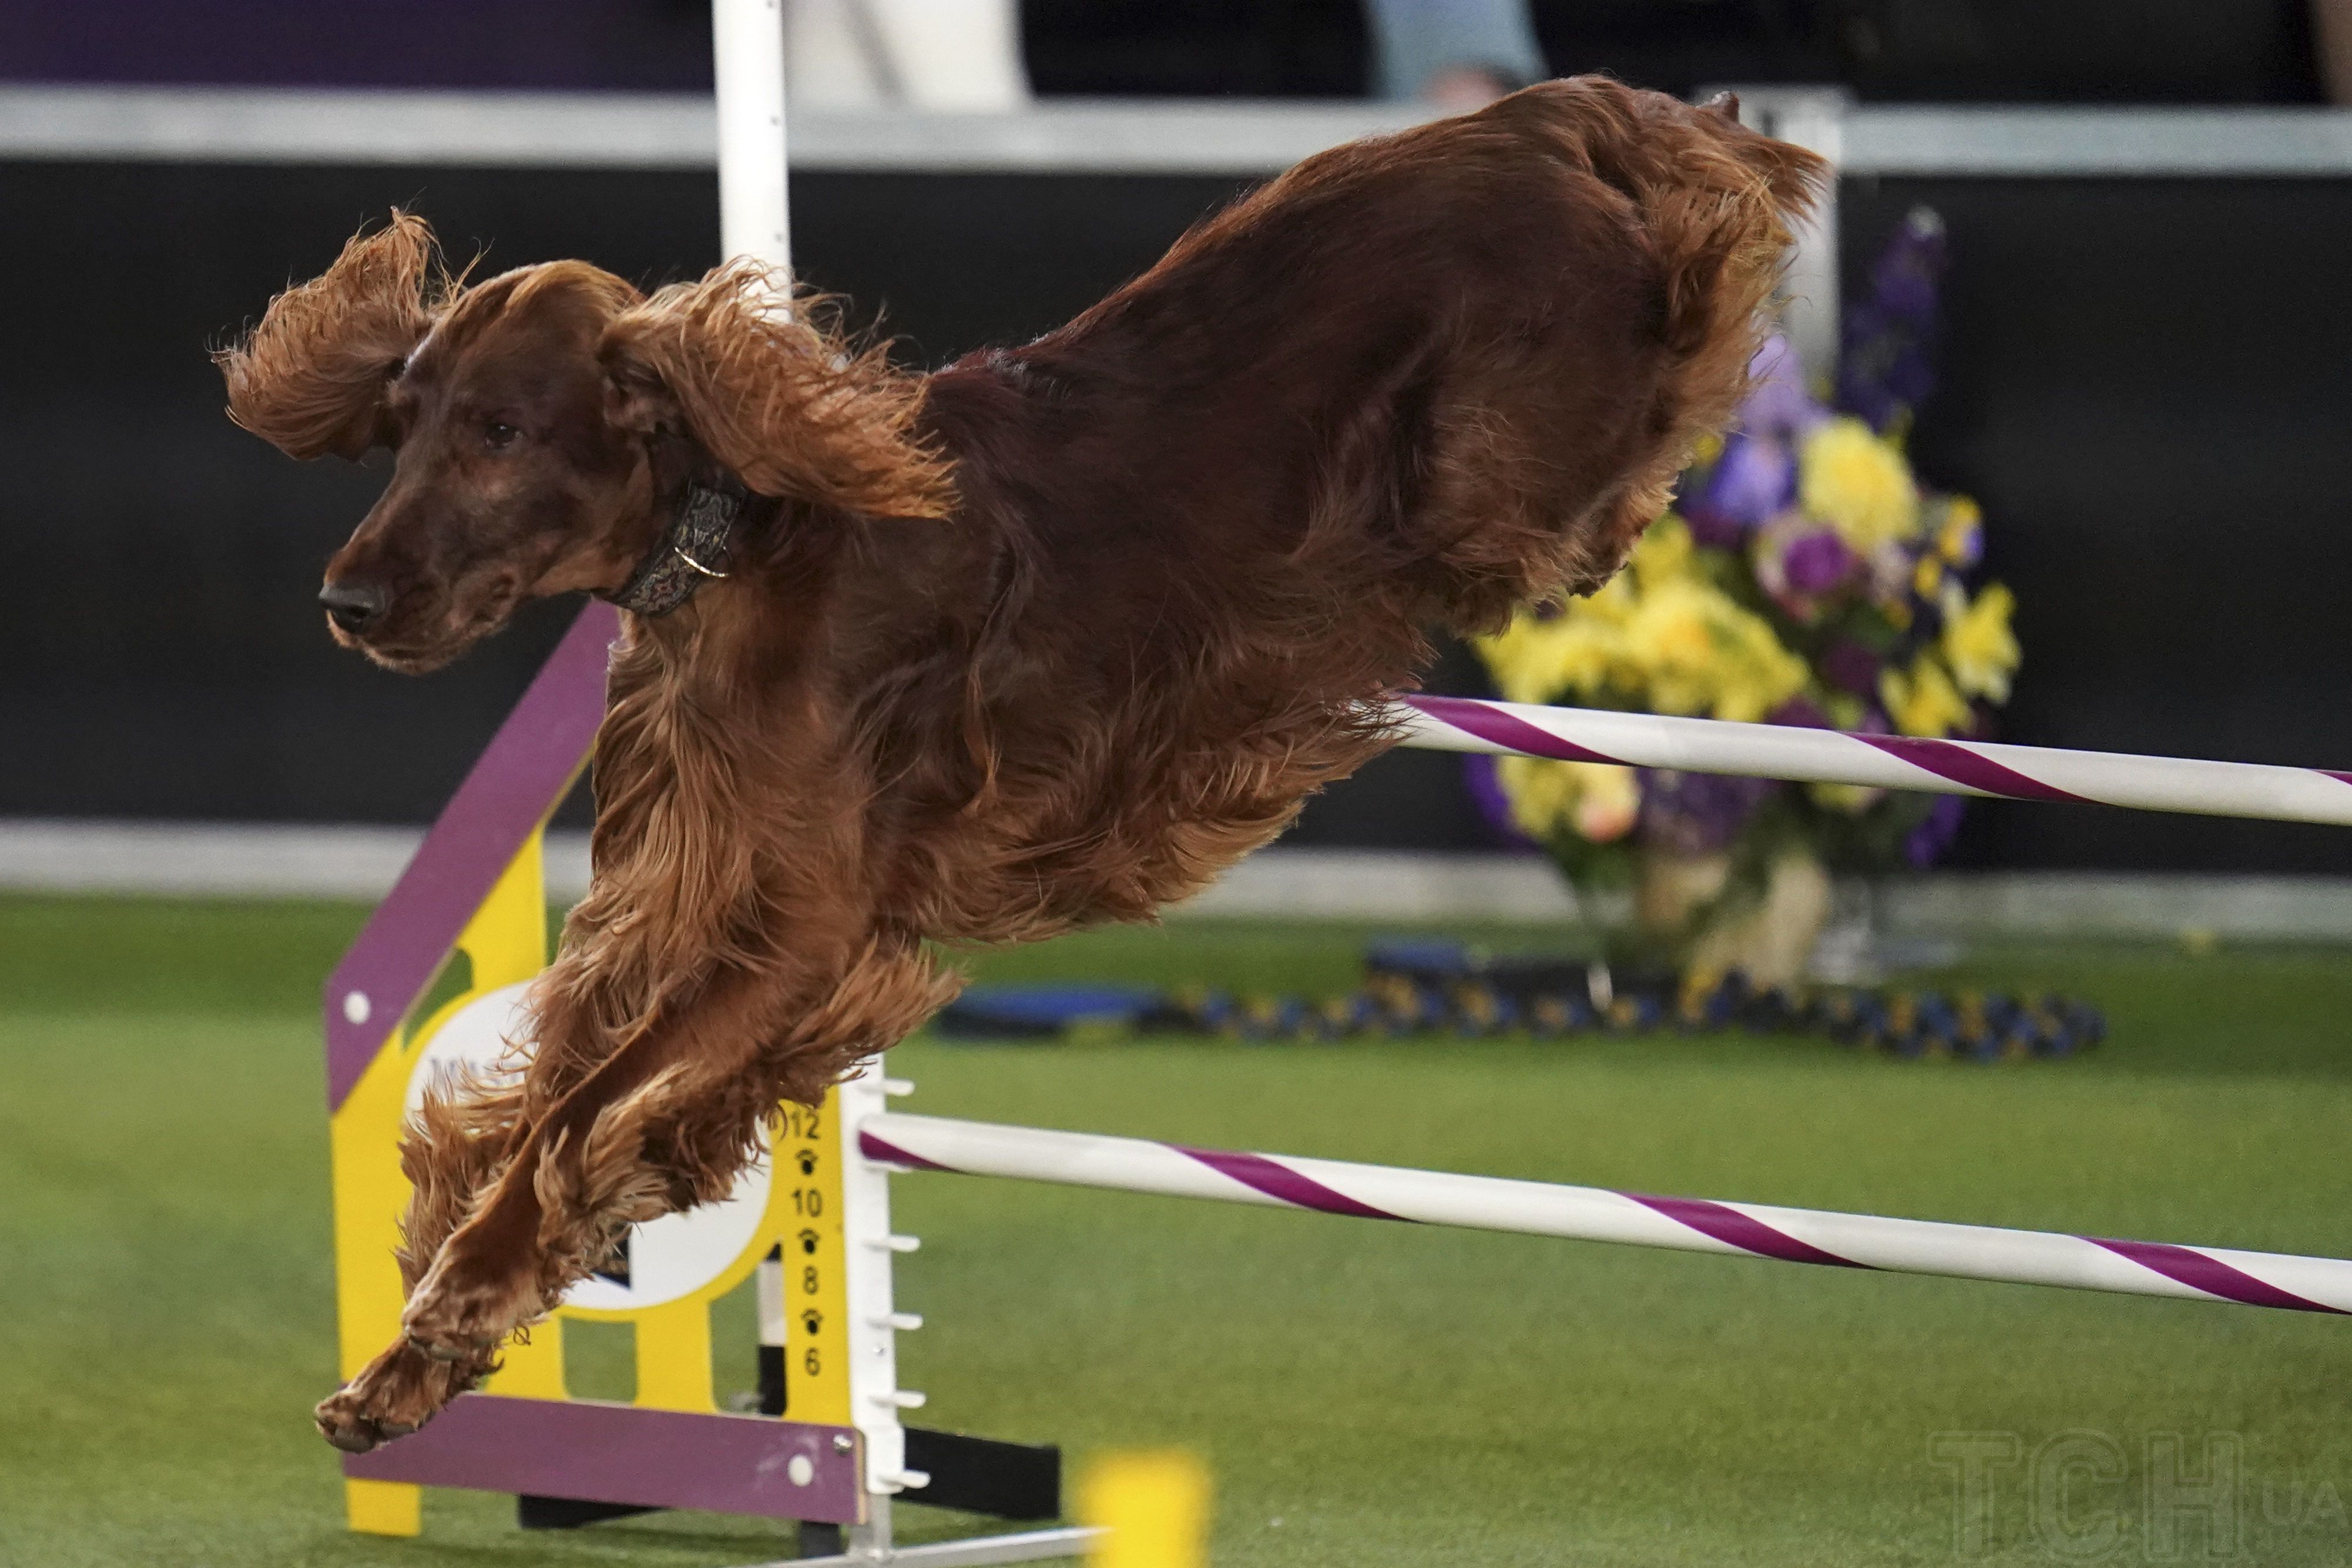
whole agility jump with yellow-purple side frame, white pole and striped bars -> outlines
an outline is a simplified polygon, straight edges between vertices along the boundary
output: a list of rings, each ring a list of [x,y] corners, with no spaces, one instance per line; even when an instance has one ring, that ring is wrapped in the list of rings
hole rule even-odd
[[[722,205],[729,254],[786,256],[783,103],[774,7],[720,0]],[[691,564],[691,562],[689,562]],[[400,1335],[393,1265],[409,1197],[397,1140],[437,1065],[494,1067],[527,1027],[522,990],[546,964],[541,837],[604,715],[619,616],[590,604],[517,703],[416,860],[327,983],[336,1295],[343,1373]],[[1385,712],[1399,745],[1524,752],[2037,802],[2352,823],[2352,776],[2164,757],[2049,752],[1964,741],[1846,736],[1618,712],[1406,698]],[[426,1011],[452,954],[463,985]],[[783,1107],[767,1159],[720,1204],[630,1232],[510,1342],[482,1392],[430,1425],[346,1455],[353,1528],[416,1533],[419,1486],[463,1486],[604,1509],[708,1507],[849,1530],[830,1563],[1004,1563],[1068,1556],[1084,1530],[1025,1530],[894,1547],[891,1500],[971,1507],[955,1448],[901,1425],[922,1394],[896,1382],[894,1265],[917,1239],[889,1225],[889,1175],[936,1168],[1080,1182],[1355,1218],[1670,1246],[1783,1262],[1957,1274],[2140,1295],[2352,1312],[2352,1262],[2227,1248],[1837,1215],[1757,1204],[1390,1171],[1341,1161],[1185,1150],[1134,1138],[1000,1128],[887,1110],[877,1063],[823,1105]],[[710,1387],[710,1302],[757,1276],[774,1352],[771,1413],[722,1410]],[[637,1328],[630,1406],[576,1401],[562,1375],[567,1319]],[[781,1406],[776,1410],[774,1406]],[[936,1450],[941,1462],[924,1453]],[[1016,1512],[1035,1519],[1058,1509]],[[593,1514],[590,1514],[593,1516]]]

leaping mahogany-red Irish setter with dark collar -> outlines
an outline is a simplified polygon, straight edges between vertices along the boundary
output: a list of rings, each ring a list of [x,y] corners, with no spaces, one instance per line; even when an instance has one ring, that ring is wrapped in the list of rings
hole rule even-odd
[[[395,214],[221,355],[296,458],[397,449],[334,637],[430,670],[628,614],[595,879],[517,1084],[412,1121],[412,1432],[619,1234],[722,1197],[957,985],[1150,919],[1381,752],[1425,628],[1599,585],[1726,418],[1823,165],[1609,80],[1310,158],[1035,343],[917,376],[755,266],[449,280]]]

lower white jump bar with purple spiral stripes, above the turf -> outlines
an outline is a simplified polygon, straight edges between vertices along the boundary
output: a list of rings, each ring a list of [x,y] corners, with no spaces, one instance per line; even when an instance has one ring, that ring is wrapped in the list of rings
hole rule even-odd
[[[2042,1229],[1889,1220],[1870,1213],[1661,1199],[1606,1187],[1559,1187],[1494,1175],[1355,1166],[1190,1150],[1178,1143],[1051,1133],[943,1117],[868,1117],[858,1152],[875,1164],[962,1175],[1011,1175],[1070,1187],[1315,1208],[1359,1220],[1411,1220],[1529,1237],[1670,1246],[1898,1274],[2004,1279],[2027,1286],[2185,1295],[2190,1300],[2352,1314],[2352,1262],[2239,1253],[2220,1246],[2107,1241]]]

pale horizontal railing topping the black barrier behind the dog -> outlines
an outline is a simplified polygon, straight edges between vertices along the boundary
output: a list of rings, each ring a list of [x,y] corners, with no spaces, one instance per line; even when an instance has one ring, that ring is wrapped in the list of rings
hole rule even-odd
[[[1743,89],[1745,92],[1745,89]],[[1757,89],[1752,101],[1813,101]],[[793,115],[795,169],[1270,174],[1414,125],[1371,101],[1047,99]],[[2352,176],[2352,110],[1839,106],[1846,174]],[[0,87],[0,160],[710,169],[701,94]]]

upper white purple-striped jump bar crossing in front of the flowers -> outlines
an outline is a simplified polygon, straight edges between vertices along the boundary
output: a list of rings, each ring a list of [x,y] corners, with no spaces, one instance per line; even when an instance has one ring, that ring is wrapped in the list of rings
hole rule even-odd
[[[1409,696],[1390,712],[1402,731],[1399,745],[1442,752],[1517,752],[1686,773],[2352,825],[2352,773],[2326,769],[1856,736],[1795,724],[1670,719],[1649,712],[1534,708],[1461,696]]]

